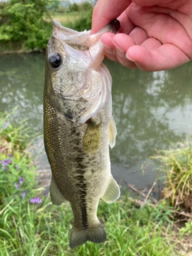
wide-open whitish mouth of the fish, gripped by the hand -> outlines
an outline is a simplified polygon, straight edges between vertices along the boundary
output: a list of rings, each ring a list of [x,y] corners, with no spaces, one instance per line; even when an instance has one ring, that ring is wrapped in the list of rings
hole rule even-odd
[[[101,35],[106,32],[117,33],[120,29],[120,22],[115,19],[108,25],[99,30],[96,34],[90,35],[90,30],[84,30],[78,32],[65,26],[62,26],[56,19],[53,20],[53,34],[52,34],[52,46],[62,50],[69,56],[74,58],[89,58],[92,59],[92,67],[97,69],[102,63],[105,56],[102,43],[100,42]],[[97,46],[95,46],[97,45]],[[48,52],[52,47],[48,46]],[[89,61],[88,61],[89,62]]]

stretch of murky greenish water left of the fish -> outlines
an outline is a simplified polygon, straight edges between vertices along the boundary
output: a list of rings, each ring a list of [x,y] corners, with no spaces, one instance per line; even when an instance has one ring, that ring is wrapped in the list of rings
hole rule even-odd
[[[42,133],[44,56],[1,55],[0,62],[0,110],[11,112],[18,106],[14,120],[29,118],[31,129]]]

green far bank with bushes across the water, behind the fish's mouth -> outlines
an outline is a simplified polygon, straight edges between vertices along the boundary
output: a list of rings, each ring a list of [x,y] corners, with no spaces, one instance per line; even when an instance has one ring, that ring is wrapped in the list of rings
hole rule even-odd
[[[38,8],[38,4],[26,2],[0,3],[2,13],[0,54],[23,54],[46,50],[46,44],[52,34],[54,18],[63,26],[74,30],[90,30],[93,10],[90,3],[87,3],[88,6],[81,3],[73,11],[63,8],[61,13],[47,8],[47,4],[48,2],[44,0],[42,6]]]

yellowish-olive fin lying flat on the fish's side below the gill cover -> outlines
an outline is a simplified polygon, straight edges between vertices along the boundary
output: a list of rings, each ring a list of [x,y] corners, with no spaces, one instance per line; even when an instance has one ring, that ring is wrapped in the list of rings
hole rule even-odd
[[[86,128],[86,134],[83,138],[83,151],[87,154],[95,154],[98,151],[101,142],[101,127],[89,123]]]

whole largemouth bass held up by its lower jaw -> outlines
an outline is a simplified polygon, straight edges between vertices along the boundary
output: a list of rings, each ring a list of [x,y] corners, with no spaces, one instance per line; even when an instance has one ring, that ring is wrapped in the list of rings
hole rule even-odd
[[[54,205],[70,202],[74,214],[70,248],[106,241],[97,217],[100,198],[115,202],[120,188],[110,170],[109,146],[117,134],[112,116],[109,70],[100,37],[116,33],[118,20],[97,34],[78,32],[53,21],[46,48],[43,96],[44,144]]]

